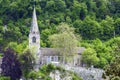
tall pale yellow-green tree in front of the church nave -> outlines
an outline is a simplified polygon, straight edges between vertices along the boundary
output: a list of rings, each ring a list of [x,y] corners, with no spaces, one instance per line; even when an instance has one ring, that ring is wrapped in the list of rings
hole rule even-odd
[[[77,53],[78,40],[74,34],[74,29],[67,24],[62,23],[57,30],[58,33],[50,36],[49,39],[52,46],[58,49],[60,55],[64,56],[67,61]]]

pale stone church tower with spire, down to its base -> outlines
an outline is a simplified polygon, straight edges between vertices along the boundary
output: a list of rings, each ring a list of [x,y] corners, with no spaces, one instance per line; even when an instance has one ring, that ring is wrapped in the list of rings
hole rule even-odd
[[[29,49],[32,49],[33,53],[35,53],[35,61],[36,65],[34,66],[35,70],[39,69],[39,63],[40,63],[40,32],[37,24],[37,16],[36,16],[36,10],[34,7],[33,10],[33,17],[30,27],[30,33],[29,33]]]

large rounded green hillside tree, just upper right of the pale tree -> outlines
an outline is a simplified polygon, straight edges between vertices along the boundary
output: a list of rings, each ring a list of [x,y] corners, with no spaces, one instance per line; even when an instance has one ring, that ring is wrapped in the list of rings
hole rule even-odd
[[[86,17],[82,24],[79,25],[79,32],[83,39],[91,40],[101,37],[100,35],[102,34],[102,27],[94,19]]]

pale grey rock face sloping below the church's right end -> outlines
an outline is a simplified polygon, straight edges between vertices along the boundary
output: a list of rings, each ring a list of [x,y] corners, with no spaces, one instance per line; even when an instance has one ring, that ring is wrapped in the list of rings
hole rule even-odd
[[[77,73],[79,76],[82,77],[83,80],[103,80],[102,74],[104,73],[103,70],[97,68],[83,68],[83,67],[65,67],[67,70],[71,70]]]

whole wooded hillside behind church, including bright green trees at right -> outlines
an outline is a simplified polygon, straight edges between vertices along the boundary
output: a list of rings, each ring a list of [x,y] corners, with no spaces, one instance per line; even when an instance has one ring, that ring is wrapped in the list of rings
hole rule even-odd
[[[48,37],[66,23],[81,36],[81,46],[89,48],[83,56],[95,55],[83,60],[88,65],[103,68],[120,55],[120,0],[0,0],[1,53],[8,46],[20,53],[28,45],[34,5],[42,47],[51,47]]]

